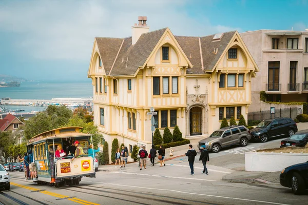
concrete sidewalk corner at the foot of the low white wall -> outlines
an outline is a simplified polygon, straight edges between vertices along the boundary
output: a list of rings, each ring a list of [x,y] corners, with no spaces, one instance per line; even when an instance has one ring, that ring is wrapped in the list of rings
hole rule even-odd
[[[224,175],[222,181],[238,183],[267,183],[270,185],[280,185],[279,172],[234,172]]]

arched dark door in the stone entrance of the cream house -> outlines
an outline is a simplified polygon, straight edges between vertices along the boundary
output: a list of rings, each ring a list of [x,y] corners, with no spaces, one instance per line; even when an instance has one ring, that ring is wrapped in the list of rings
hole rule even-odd
[[[200,107],[189,110],[189,133],[190,135],[202,134],[202,108]]]

